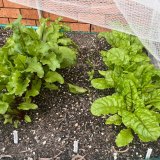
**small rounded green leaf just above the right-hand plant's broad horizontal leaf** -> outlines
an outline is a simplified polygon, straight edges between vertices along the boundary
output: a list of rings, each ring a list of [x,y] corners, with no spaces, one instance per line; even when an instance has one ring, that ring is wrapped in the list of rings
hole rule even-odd
[[[107,89],[111,86],[107,83],[105,78],[96,78],[91,81],[91,84],[96,89]]]

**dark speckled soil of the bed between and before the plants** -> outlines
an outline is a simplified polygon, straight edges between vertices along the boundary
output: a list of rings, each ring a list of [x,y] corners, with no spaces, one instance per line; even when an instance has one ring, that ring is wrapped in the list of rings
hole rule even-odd
[[[0,45],[4,44],[6,31],[0,32]],[[9,33],[10,34],[10,31]],[[8,35],[7,34],[7,35]],[[39,109],[30,112],[32,123],[22,123],[17,129],[19,143],[13,143],[11,125],[0,122],[0,159],[7,160],[113,160],[115,150],[117,160],[144,159],[147,149],[152,148],[152,157],[160,156],[160,140],[154,143],[142,143],[135,138],[126,148],[117,148],[115,137],[120,127],[105,125],[104,118],[91,115],[91,103],[98,97],[112,94],[113,90],[97,91],[90,86],[87,71],[103,69],[99,51],[110,46],[99,40],[96,34],[68,33],[79,46],[78,63],[75,67],[62,71],[65,81],[89,90],[87,94],[74,95],[68,92],[67,85],[60,86],[60,91],[42,89],[34,99]],[[73,143],[79,141],[78,153],[73,152]],[[123,151],[124,152],[123,152]],[[75,158],[76,155],[81,158]],[[83,157],[84,156],[84,157]],[[7,156],[6,156],[7,157]]]

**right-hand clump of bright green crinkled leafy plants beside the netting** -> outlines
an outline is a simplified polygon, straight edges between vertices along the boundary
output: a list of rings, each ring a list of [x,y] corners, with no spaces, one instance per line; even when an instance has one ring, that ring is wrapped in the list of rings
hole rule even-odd
[[[116,31],[100,33],[113,48],[101,51],[108,70],[91,81],[96,89],[114,88],[115,93],[95,100],[91,113],[107,116],[106,124],[122,125],[116,137],[118,147],[132,142],[136,134],[142,142],[160,137],[160,70],[151,64],[143,45],[132,36]]]

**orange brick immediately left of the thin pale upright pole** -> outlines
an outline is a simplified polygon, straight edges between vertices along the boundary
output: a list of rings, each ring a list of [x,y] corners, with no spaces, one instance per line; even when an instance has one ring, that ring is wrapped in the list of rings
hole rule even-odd
[[[35,9],[21,9],[21,14],[26,19],[39,19],[38,12]]]

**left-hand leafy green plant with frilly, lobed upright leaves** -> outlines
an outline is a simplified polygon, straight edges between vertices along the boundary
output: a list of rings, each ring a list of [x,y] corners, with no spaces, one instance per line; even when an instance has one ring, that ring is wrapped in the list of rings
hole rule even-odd
[[[64,83],[57,69],[74,65],[77,54],[75,44],[61,32],[69,28],[60,18],[50,25],[41,19],[36,31],[22,25],[21,18],[8,25],[13,35],[0,49],[0,116],[15,127],[23,119],[31,122],[27,111],[38,108],[32,97],[42,85],[57,90]]]

